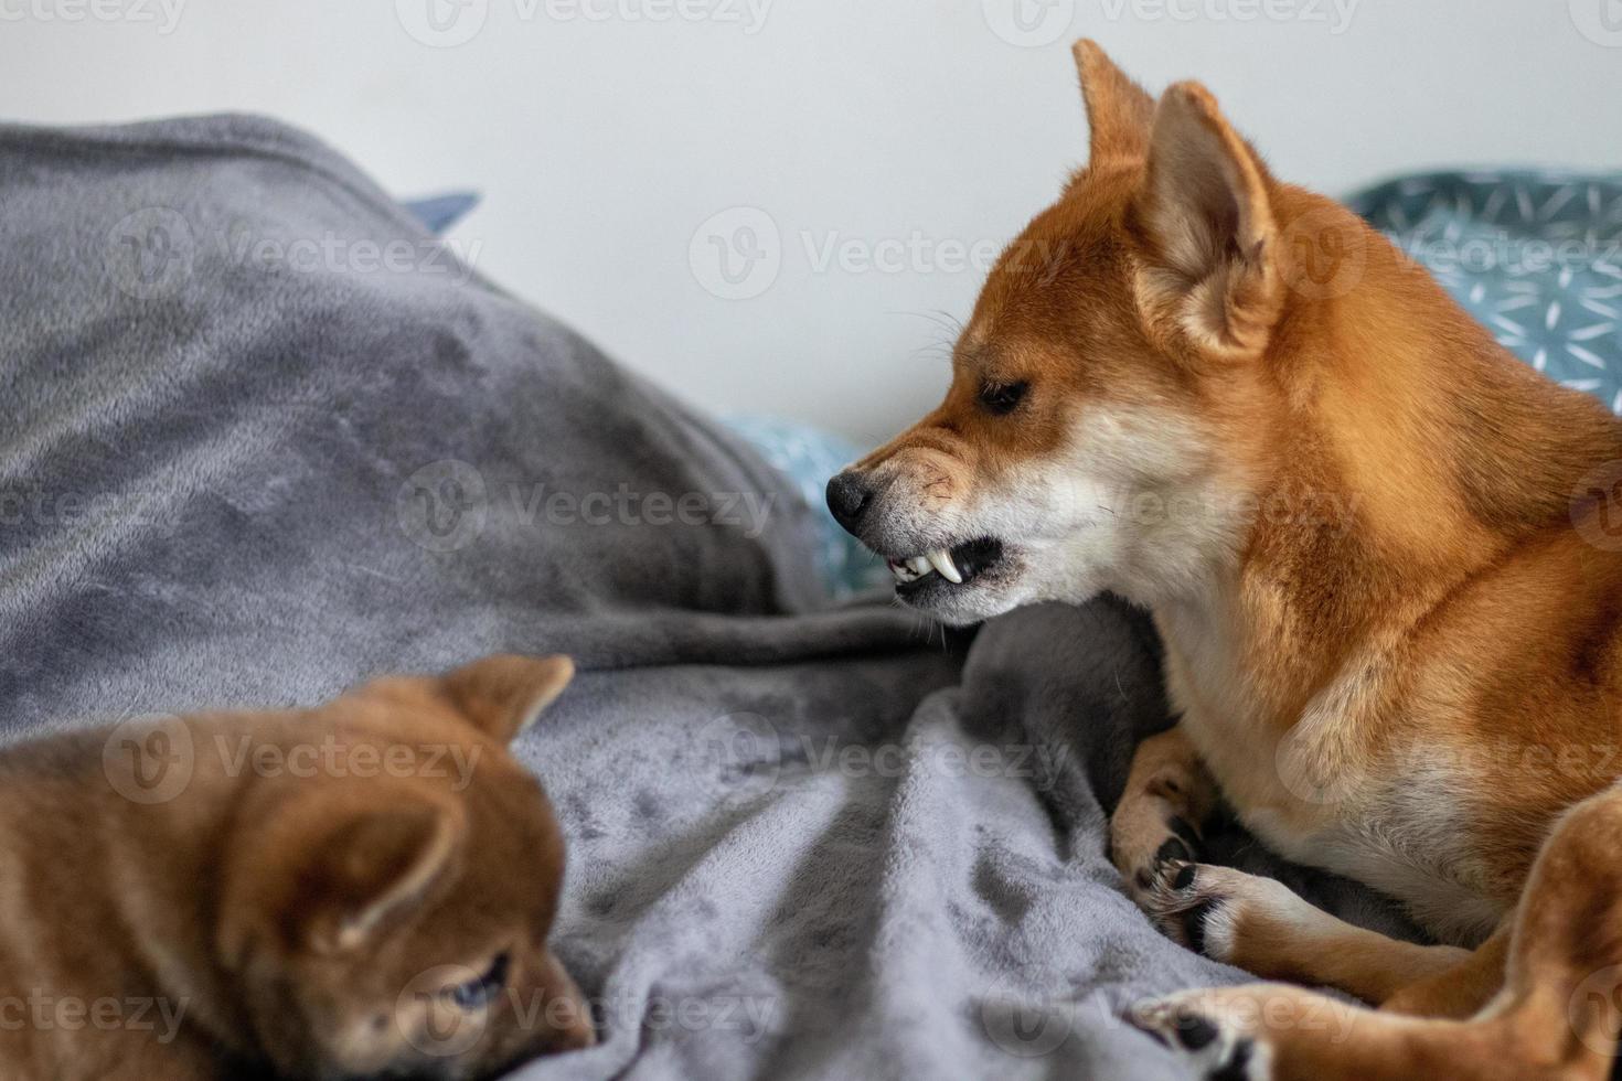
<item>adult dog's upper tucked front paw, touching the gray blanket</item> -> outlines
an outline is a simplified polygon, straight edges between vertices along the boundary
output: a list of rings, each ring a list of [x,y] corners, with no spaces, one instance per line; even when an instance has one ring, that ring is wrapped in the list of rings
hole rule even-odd
[[[1132,755],[1121,802],[1109,815],[1109,859],[1140,903],[1156,872],[1199,859],[1202,827],[1216,809],[1216,784],[1176,726]]]

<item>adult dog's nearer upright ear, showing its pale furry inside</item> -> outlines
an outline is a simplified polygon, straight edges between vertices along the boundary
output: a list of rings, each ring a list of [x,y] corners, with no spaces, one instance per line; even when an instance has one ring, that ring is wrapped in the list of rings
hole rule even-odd
[[[1210,91],[1178,83],[1161,96],[1129,214],[1152,321],[1171,319],[1195,348],[1223,357],[1267,347],[1285,292],[1270,186]]]

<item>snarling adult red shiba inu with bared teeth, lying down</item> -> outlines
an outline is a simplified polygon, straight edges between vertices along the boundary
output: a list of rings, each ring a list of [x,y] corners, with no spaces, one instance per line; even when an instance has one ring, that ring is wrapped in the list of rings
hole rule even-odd
[[[1011,248],[1062,256],[1006,256],[946,400],[829,506],[949,622],[1153,611],[1181,721],[1139,749],[1113,859],[1168,934],[1280,982],[1135,1024],[1212,1078],[1606,1078],[1622,426],[1275,180],[1202,86],[1155,100],[1075,53],[1090,160]],[[1218,794],[1444,945],[1197,862]]]

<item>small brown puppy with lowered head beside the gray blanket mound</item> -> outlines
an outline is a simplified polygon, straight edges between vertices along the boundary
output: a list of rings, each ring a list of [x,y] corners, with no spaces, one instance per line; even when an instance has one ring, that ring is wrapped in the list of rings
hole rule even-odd
[[[0,755],[0,1076],[478,1078],[592,1042],[506,750],[566,658]]]

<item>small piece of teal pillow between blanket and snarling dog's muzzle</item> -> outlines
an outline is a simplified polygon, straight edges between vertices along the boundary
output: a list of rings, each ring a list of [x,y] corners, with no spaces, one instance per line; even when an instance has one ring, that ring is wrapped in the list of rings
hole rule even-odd
[[[827,511],[827,480],[861,457],[855,444],[814,425],[770,417],[728,417],[727,426],[749,441],[780,473],[793,480],[816,512],[817,570],[835,600],[884,587],[890,580],[884,562],[840,528]]]

